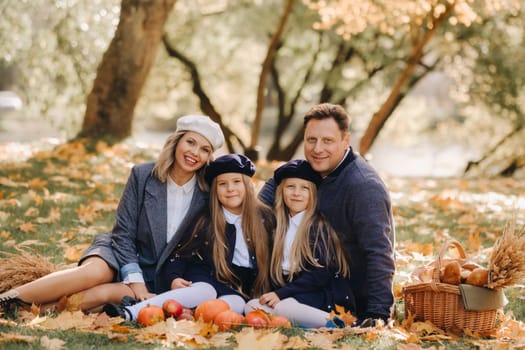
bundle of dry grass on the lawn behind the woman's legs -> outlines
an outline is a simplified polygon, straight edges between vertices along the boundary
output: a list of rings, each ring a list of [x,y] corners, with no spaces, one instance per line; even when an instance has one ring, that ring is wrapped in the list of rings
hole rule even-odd
[[[2,254],[5,257],[0,258],[0,293],[57,270],[46,257],[33,252]]]

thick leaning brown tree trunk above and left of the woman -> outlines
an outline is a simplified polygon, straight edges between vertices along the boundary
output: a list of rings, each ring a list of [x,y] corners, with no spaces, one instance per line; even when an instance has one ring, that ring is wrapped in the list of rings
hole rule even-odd
[[[122,0],[120,21],[97,69],[79,136],[131,134],[133,112],[176,0]]]

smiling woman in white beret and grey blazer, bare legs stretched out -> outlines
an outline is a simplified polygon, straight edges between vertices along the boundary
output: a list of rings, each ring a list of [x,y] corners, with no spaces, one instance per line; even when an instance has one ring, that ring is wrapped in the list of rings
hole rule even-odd
[[[13,304],[50,304],[80,292],[81,309],[99,311],[125,296],[145,300],[168,290],[158,267],[206,207],[204,169],[223,142],[219,125],[209,117],[179,118],[157,162],[131,170],[113,229],[95,238],[77,267],[0,294],[4,311]]]

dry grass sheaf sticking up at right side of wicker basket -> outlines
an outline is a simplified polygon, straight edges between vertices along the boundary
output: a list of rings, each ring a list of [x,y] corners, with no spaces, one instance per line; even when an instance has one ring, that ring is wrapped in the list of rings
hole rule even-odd
[[[501,289],[525,280],[525,226],[513,220],[494,244],[489,262],[488,287]]]

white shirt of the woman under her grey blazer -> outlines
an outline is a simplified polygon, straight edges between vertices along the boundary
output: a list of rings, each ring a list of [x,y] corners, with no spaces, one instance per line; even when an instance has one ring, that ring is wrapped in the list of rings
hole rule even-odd
[[[182,219],[184,219],[188,213],[196,184],[197,177],[195,175],[182,186],[177,185],[175,181],[168,176],[168,229],[166,242],[169,242],[173,238]]]

